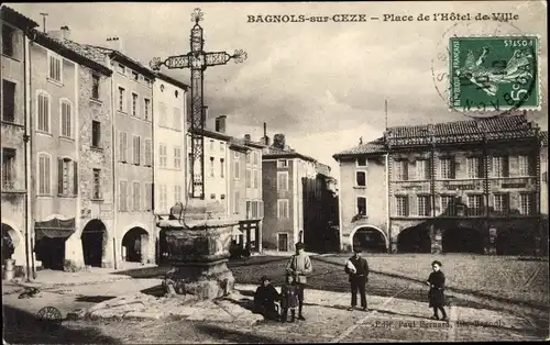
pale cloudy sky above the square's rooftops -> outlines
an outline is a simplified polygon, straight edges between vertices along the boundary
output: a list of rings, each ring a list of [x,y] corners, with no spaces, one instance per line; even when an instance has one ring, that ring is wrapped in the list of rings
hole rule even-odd
[[[442,60],[452,35],[541,36],[539,76],[541,111],[528,118],[548,129],[547,8],[542,1],[451,2],[339,2],[339,3],[7,3],[46,30],[70,29],[72,40],[105,45],[119,36],[123,53],[148,65],[153,57],[189,51],[190,14],[204,12],[205,51],[248,53],[243,64],[228,63],[205,73],[207,125],[217,115],[228,116],[228,133],[254,140],[284,133],[286,143],[332,168],[332,155],[380,137],[389,126],[465,120],[448,110],[446,85],[438,81],[448,70]],[[419,14],[513,13],[509,22],[417,21]],[[366,22],[257,23],[249,15],[365,14]],[[383,21],[384,14],[413,15],[414,21]],[[378,18],[378,20],[371,20]],[[189,71],[163,68],[189,84]],[[384,102],[387,100],[387,118]],[[483,113],[481,114],[483,115]],[[387,120],[386,120],[387,119]]]

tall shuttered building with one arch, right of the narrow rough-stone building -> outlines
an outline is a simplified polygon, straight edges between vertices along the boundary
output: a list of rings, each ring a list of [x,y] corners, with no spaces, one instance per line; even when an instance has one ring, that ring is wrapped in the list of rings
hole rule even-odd
[[[152,263],[155,257],[153,213],[153,82],[155,74],[125,55],[121,41],[96,47],[109,58],[114,132],[113,242],[124,261]]]

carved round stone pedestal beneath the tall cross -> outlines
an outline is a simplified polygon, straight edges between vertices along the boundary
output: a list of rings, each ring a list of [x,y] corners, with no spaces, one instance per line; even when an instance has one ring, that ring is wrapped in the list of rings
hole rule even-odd
[[[231,234],[238,223],[217,201],[189,199],[185,207],[173,207],[169,219],[157,223],[165,231],[168,261],[173,266],[165,282],[169,281],[176,293],[205,300],[232,292],[234,278],[227,263]]]

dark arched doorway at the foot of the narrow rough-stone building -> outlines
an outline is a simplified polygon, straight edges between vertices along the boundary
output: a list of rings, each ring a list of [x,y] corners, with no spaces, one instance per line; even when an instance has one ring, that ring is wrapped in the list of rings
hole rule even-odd
[[[100,220],[91,220],[84,227],[82,241],[84,264],[101,267],[103,249],[107,244],[107,229]]]

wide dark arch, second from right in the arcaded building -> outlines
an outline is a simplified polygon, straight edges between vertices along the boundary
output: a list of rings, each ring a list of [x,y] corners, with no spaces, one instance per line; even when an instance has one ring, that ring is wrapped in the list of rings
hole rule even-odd
[[[443,231],[443,253],[484,253],[483,235],[470,227],[448,227]]]

